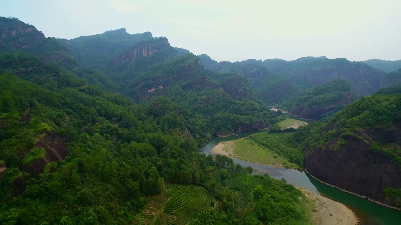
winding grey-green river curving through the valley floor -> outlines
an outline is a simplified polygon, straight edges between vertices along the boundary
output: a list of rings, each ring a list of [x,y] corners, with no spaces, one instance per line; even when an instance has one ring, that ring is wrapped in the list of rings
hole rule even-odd
[[[296,116],[286,115],[291,119],[300,120]],[[308,122],[307,120],[302,121]],[[211,154],[213,147],[221,141],[233,141],[259,132],[263,131],[241,132],[238,136],[230,137],[213,137],[205,145],[199,148],[199,151],[201,153]],[[354,211],[363,222],[369,222],[369,225],[401,225],[401,211],[373,203],[367,199],[360,198],[356,195],[346,193],[336,189],[335,187],[321,183],[303,170],[270,167],[242,161],[236,158],[232,159],[234,163],[240,164],[243,167],[251,166],[256,173],[268,173],[275,179],[284,178],[292,185],[342,203],[352,209],[352,211]]]

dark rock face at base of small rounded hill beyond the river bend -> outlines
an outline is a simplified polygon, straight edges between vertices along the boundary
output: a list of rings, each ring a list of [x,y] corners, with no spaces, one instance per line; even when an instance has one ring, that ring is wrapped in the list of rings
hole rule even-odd
[[[302,119],[316,119],[319,115],[331,111],[338,105],[347,105],[355,100],[352,93],[346,93],[344,96],[336,101],[328,102],[326,104],[318,106],[307,106],[307,105],[294,105],[288,111],[292,115],[299,116]]]

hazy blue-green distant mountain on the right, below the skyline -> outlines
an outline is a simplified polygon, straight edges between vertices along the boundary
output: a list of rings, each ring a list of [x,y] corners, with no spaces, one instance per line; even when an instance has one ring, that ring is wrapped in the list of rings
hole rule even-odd
[[[386,85],[383,81],[386,72],[360,62],[348,61],[346,58],[308,56],[294,61],[265,60],[261,65],[285,75],[290,82],[304,90],[330,80],[345,79],[351,83],[352,91],[357,96],[366,96]]]

